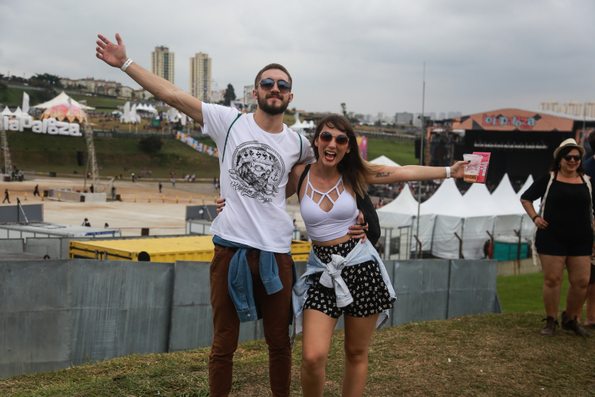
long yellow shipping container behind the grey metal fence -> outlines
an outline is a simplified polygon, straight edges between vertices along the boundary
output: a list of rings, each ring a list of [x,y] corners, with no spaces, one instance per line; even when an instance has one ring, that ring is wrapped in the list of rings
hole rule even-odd
[[[71,241],[69,258],[175,262],[196,260],[210,262],[215,254],[212,235],[129,240]],[[292,241],[294,261],[308,260],[312,243]]]

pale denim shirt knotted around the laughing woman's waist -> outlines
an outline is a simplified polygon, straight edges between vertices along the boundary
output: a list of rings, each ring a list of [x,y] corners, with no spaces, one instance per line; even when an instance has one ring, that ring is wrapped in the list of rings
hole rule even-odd
[[[302,332],[303,305],[306,304],[306,299],[308,299],[308,289],[312,283],[311,281],[308,282],[308,277],[312,274],[322,273],[319,282],[327,288],[333,288],[335,290],[335,295],[337,295],[337,306],[344,307],[351,304],[351,302],[354,302],[354,298],[351,297],[351,293],[349,293],[349,289],[341,277],[343,268],[346,266],[359,265],[368,260],[372,260],[374,263],[378,264],[380,274],[382,275],[382,281],[385,283],[386,288],[388,288],[390,299],[394,302],[397,296],[395,295],[395,290],[392,288],[384,263],[382,263],[378,252],[376,252],[376,249],[374,249],[369,240],[366,240],[366,242],[359,242],[345,258],[333,254],[330,263],[322,263],[314,253],[314,249],[310,251],[306,272],[299,278],[292,290],[292,304],[294,307],[292,343],[294,342],[296,335],[301,334]],[[376,320],[376,329],[380,330],[386,324],[387,320],[388,311],[380,313],[378,320]]]

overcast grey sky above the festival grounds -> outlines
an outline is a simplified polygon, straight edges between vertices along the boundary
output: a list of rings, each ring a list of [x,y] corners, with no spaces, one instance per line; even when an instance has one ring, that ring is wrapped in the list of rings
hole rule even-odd
[[[159,45],[175,53],[189,91],[189,59],[212,58],[212,77],[241,95],[271,62],[292,74],[307,111],[425,110],[472,114],[595,100],[595,1],[61,1],[0,0],[0,73],[114,79],[95,58],[97,33],[122,35],[150,70]],[[113,39],[115,41],[115,39]]]

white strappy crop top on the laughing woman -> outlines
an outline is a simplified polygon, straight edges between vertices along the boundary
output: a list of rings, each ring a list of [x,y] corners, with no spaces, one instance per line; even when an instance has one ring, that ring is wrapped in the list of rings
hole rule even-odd
[[[304,224],[306,224],[306,231],[310,238],[315,241],[329,241],[335,238],[347,235],[349,226],[354,226],[358,218],[358,205],[354,197],[345,190],[343,178],[341,177],[337,185],[326,193],[319,192],[310,183],[310,171],[308,171],[308,183],[306,184],[306,192],[304,192],[299,205],[301,217]],[[343,192],[339,192],[339,185],[342,185]],[[308,196],[308,187],[311,195]],[[333,190],[337,191],[338,198],[336,201],[331,198],[330,193]],[[320,194],[320,200],[315,203],[313,197],[314,193]],[[320,208],[320,203],[324,197],[333,203],[333,208],[326,212]]]

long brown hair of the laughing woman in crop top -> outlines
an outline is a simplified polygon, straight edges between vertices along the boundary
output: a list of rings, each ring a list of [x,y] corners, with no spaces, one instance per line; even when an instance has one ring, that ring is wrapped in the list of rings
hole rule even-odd
[[[320,120],[316,126],[316,132],[314,134],[314,139],[312,139],[311,145],[317,161],[319,154],[318,148],[315,145],[315,141],[318,139],[320,133],[325,127],[336,128],[349,137],[349,153],[345,153],[339,162],[337,169],[341,173],[344,182],[363,197],[367,192],[367,182],[365,178],[366,173],[374,172],[379,169],[380,166],[371,164],[363,159],[360,153],[360,148],[358,147],[358,141],[356,139],[354,127],[351,126],[351,123],[346,117],[341,116],[340,114],[329,114],[328,116],[322,118],[322,120]]]

